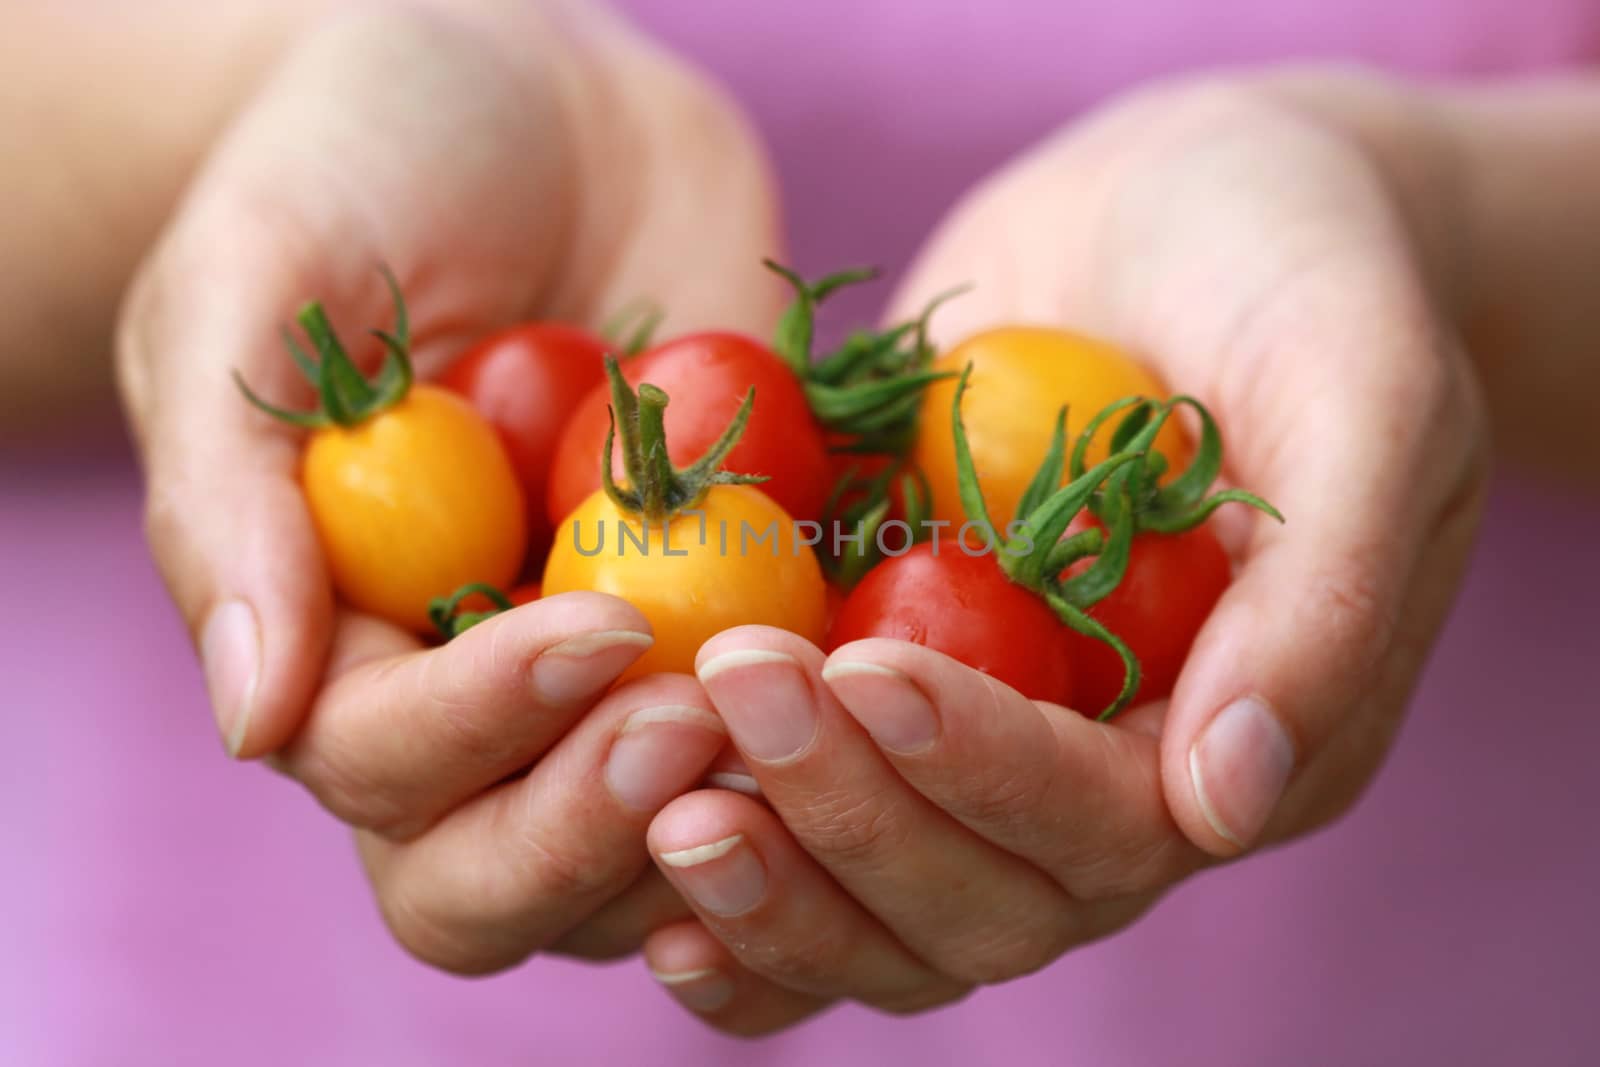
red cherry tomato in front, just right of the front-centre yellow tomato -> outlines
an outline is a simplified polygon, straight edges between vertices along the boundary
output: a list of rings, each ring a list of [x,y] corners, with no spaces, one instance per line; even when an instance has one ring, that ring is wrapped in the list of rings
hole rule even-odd
[[[1022,696],[1072,705],[1070,630],[990,555],[968,555],[952,537],[914,547],[867,571],[840,605],[829,649],[894,637],[954,656]],[[1115,659],[1115,656],[1112,657]]]

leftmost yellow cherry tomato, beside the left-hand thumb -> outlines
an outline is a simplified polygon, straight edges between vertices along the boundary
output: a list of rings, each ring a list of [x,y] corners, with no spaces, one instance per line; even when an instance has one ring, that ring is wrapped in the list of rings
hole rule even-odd
[[[418,384],[354,427],[310,435],[301,466],[333,585],[350,606],[426,632],[427,603],[509,585],[526,526],[510,459],[461,397]]]

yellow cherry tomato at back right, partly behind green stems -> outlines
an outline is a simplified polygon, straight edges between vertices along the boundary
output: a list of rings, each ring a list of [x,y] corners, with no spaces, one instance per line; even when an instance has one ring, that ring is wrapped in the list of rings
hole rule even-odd
[[[1067,405],[1069,448],[1078,430],[1106,405],[1123,397],[1165,397],[1166,389],[1147,368],[1122,349],[1043,326],[1003,326],[968,338],[933,362],[936,371],[973,373],[962,398],[962,419],[973,450],[973,464],[997,526],[1016,515],[1016,506],[1050,450],[1056,413]],[[933,515],[960,526],[960,491],[955,477],[955,442],[950,437],[950,403],[955,379],[928,387],[912,458],[933,493]],[[1090,443],[1086,462],[1109,454],[1110,426]],[[1168,421],[1155,438],[1155,451],[1170,469],[1189,456],[1184,432]]]

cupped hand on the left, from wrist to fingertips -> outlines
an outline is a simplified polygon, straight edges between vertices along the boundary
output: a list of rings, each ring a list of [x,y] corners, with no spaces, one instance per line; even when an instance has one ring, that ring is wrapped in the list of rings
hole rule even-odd
[[[227,750],[270,753],[355,827],[387,921],[435,965],[611,955],[686,915],[645,827],[722,726],[690,678],[608,693],[650,640],[621,600],[550,598],[432,651],[338,608],[299,437],[230,373],[309,400],[280,323],[307,298],[350,330],[384,323],[381,262],[424,376],[494,326],[592,323],[640,296],[672,330],[765,331],[776,219],[733,106],[610,13],[379,8],[285,56],[130,291],[118,376],[150,549]]]

